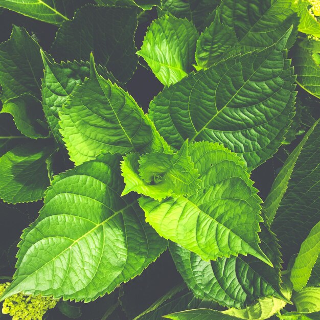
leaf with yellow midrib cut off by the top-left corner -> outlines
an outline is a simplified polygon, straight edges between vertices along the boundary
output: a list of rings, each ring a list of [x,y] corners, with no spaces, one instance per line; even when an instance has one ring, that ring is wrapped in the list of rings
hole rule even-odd
[[[85,3],[86,0],[2,0],[0,6],[59,26]]]

